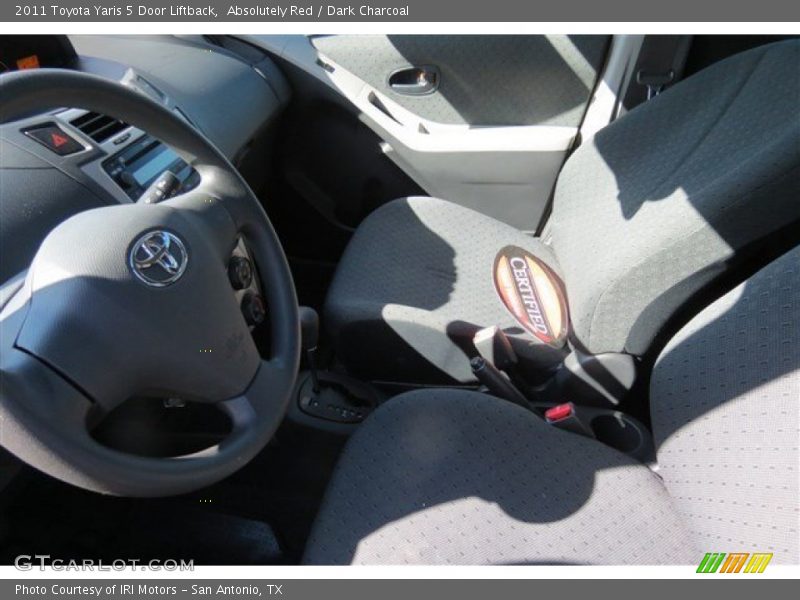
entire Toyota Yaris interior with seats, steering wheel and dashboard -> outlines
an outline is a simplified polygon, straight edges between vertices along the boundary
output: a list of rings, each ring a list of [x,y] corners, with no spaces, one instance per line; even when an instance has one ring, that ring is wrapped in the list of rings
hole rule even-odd
[[[798,439],[799,36],[0,36],[0,564],[798,564]]]

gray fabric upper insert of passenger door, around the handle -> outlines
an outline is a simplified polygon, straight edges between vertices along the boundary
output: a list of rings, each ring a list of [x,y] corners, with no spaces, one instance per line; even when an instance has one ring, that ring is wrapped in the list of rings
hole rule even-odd
[[[608,36],[320,36],[317,51],[422,119],[446,125],[577,127]],[[398,93],[389,76],[432,65],[426,96]]]

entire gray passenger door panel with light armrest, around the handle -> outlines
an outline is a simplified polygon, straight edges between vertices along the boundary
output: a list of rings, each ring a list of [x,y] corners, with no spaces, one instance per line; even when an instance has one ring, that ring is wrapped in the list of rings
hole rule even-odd
[[[609,46],[609,36],[248,40],[342,98],[426,193],[527,231],[545,212]],[[434,71],[434,89],[393,88],[393,74],[409,68]]]

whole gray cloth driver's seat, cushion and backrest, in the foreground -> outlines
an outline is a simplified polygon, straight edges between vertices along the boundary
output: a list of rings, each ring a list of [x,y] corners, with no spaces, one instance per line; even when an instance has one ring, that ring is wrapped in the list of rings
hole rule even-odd
[[[345,447],[305,562],[797,564],[797,323],[800,248],[678,333],[651,384],[660,477],[490,396],[398,396]]]

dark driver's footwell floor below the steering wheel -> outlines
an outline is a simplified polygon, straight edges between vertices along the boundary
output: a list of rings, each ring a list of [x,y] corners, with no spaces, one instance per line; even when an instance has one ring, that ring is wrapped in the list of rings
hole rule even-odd
[[[296,564],[342,442],[286,426],[233,476],[172,498],[101,496],[26,470],[3,494],[0,563],[48,554]]]

